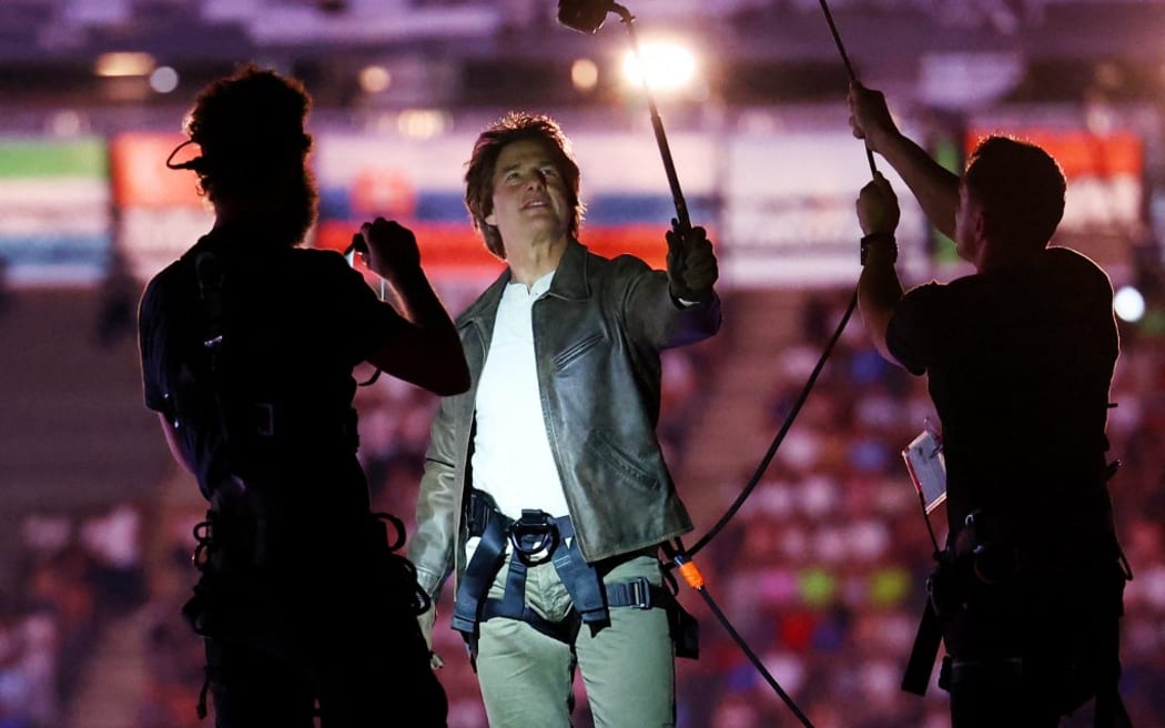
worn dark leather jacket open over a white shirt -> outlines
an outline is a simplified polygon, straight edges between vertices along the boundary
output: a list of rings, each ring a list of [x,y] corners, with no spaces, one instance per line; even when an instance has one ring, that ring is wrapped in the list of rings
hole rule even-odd
[[[445,397],[433,420],[409,546],[418,581],[433,596],[465,568],[474,403],[509,278],[506,269],[457,318],[472,384]],[[659,352],[713,335],[719,298],[680,308],[666,273],[572,241],[532,317],[543,416],[584,557],[598,561],[691,531],[655,433]]]

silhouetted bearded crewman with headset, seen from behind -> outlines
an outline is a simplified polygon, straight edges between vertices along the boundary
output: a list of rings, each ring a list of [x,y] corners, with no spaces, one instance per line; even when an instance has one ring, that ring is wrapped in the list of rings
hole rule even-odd
[[[325,728],[442,727],[424,599],[386,528],[400,522],[370,513],[356,460],[353,369],[450,395],[465,358],[409,231],[377,219],[354,239],[396,308],[339,253],[301,247],[309,106],[298,82],[245,68],[202,91],[186,120],[200,155],[171,164],[216,213],[140,306],[146,404],[210,501],[184,612],[219,727],[308,728],[317,704]]]

